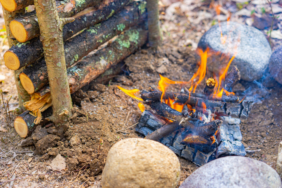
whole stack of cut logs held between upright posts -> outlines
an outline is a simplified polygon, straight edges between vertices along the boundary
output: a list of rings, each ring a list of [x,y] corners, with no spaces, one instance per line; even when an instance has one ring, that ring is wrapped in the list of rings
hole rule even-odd
[[[56,2],[59,17],[75,18],[75,21],[65,24],[62,30],[70,93],[101,77],[109,69],[117,72],[115,66],[146,43],[146,1],[130,2],[132,1]],[[33,1],[1,0],[1,3],[6,10],[16,11],[33,4]],[[41,42],[43,38],[40,36],[37,20],[35,11],[17,14],[11,20],[10,31],[19,42],[4,54],[6,67],[21,70],[20,83],[30,94],[30,100],[24,103],[28,111],[14,121],[21,137],[28,136],[42,123],[50,115],[50,112],[44,111],[50,111],[52,106],[46,56],[44,58]],[[115,36],[117,37],[107,46],[87,55]]]

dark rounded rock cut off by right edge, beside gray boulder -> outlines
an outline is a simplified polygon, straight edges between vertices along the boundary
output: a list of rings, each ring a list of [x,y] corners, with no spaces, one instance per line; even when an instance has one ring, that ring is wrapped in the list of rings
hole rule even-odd
[[[268,69],[271,76],[282,84],[282,46],[276,48],[270,56]]]

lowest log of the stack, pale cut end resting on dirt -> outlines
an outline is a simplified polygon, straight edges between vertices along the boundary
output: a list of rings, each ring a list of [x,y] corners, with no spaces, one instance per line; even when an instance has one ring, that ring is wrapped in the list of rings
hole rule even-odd
[[[49,107],[47,110],[45,110],[42,114],[43,118],[38,124],[35,124],[35,119],[33,115],[30,114],[30,111],[25,111],[19,116],[16,117],[14,120],[14,128],[16,132],[21,136],[22,138],[26,138],[28,135],[34,131],[34,129],[38,125],[44,125],[45,123],[48,122],[45,118],[52,115],[52,108]]]

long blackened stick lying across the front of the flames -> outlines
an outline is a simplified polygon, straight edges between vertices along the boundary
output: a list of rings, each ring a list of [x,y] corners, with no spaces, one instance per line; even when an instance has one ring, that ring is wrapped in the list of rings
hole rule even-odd
[[[144,101],[158,101],[160,100],[162,96],[162,92],[141,92],[141,98]],[[176,103],[182,103],[182,104],[189,104],[191,106],[199,106],[201,107],[202,103],[206,104],[207,108],[212,109],[221,109],[222,108],[222,102],[218,101],[211,101],[204,98],[197,98],[194,96],[189,96],[188,94],[185,94],[183,92],[165,92],[163,99],[175,99]]]

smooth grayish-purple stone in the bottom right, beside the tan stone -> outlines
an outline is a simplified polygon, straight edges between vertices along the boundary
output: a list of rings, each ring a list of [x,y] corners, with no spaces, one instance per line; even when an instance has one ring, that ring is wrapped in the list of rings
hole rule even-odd
[[[179,188],[281,188],[277,172],[266,163],[242,156],[213,160],[193,172]]]

